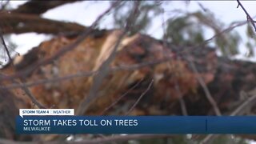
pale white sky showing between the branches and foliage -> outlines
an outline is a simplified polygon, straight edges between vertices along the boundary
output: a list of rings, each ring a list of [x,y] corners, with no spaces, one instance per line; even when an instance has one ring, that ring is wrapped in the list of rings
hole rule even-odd
[[[26,1],[11,1],[10,4],[14,8]],[[254,1],[241,1],[242,5],[246,8],[251,16],[256,15],[254,6],[256,2]],[[216,18],[221,22],[225,22],[228,26],[231,22],[246,20],[246,14],[242,11],[241,7],[237,8],[238,2],[234,1],[190,1],[188,3],[184,1],[173,1],[170,4],[165,5],[164,9],[166,11],[181,9],[188,12],[193,12],[196,10],[202,10],[199,3],[207,9],[214,12]],[[78,22],[84,26],[90,26],[92,22],[98,17],[99,14],[102,14],[110,6],[110,2],[107,1],[81,1],[66,4],[63,6],[58,6],[52,10],[48,10],[45,14],[42,15],[44,18],[50,18],[54,20],[61,20],[66,22]],[[170,13],[166,12],[164,15],[160,15],[154,18],[153,23],[150,29],[147,31],[147,34],[150,34],[154,38],[161,38],[162,31],[162,19],[167,19],[170,17]],[[100,28],[112,29],[113,28],[113,19],[111,16],[107,16],[103,22],[101,22]],[[246,40],[246,26],[241,26],[236,28],[238,33],[241,34],[242,38]],[[211,31],[206,31],[206,38],[211,38],[213,33]],[[17,51],[20,54],[25,54],[29,48],[38,46],[42,41],[50,39],[50,36],[45,34],[12,34],[10,37],[18,45]],[[33,42],[31,42],[33,39]],[[246,54],[246,49],[241,48],[242,55]],[[255,53],[256,54],[256,53]],[[238,58],[242,58],[240,55]],[[256,58],[250,58],[250,60],[256,62]]]

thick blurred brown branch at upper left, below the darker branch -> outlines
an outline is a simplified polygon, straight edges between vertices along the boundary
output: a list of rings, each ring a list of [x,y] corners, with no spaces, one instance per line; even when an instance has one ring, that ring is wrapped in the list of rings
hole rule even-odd
[[[44,34],[78,34],[85,26],[73,22],[59,22],[30,14],[0,14],[0,26],[4,34],[28,32]]]

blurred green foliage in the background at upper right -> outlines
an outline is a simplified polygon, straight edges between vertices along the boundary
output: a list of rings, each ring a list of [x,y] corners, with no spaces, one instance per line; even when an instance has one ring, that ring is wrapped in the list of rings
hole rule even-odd
[[[171,4],[171,2],[169,2]],[[184,2],[186,5],[187,2]],[[154,17],[161,16],[165,13],[164,1],[142,1],[139,7],[138,19],[134,24],[134,29],[131,32],[136,34],[138,32],[146,34],[150,28]],[[171,5],[170,5],[171,6]],[[117,28],[122,28],[125,25],[126,18],[132,10],[132,2],[123,2],[122,6],[114,8],[113,18],[114,25]],[[246,20],[246,19],[245,19]],[[225,57],[232,57],[239,54],[241,47],[246,48],[246,57],[254,56],[254,47],[256,46],[254,29],[250,23],[247,24],[246,30],[246,46],[241,46],[241,34],[236,30],[222,33],[229,26],[214,16],[214,13],[209,9],[202,7],[202,10],[193,13],[180,11],[179,14],[173,15],[162,24],[164,34],[162,39],[168,43],[178,46],[195,46],[206,41],[210,36],[206,31],[212,31],[213,34],[218,34],[212,42],[207,43],[216,47]],[[230,24],[230,26],[233,26]]]

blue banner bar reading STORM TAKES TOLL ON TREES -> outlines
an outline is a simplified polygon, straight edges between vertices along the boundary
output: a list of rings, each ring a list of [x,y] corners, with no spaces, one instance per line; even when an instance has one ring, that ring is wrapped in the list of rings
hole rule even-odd
[[[256,116],[18,116],[18,134],[256,134]]]

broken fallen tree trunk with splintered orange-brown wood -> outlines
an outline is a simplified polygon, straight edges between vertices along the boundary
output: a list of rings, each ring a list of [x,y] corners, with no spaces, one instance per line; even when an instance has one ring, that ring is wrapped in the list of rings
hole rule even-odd
[[[8,103],[1,107],[2,113],[16,114],[18,108],[38,107],[38,102],[91,115],[255,114],[254,62],[219,57],[217,48],[205,42],[177,46],[146,34],[124,34],[126,29],[58,25],[30,12],[27,17],[16,13],[3,15],[1,22],[28,18],[22,22],[26,26],[3,26],[4,34],[33,30],[55,35],[1,70],[0,98],[10,95],[2,101]],[[52,25],[30,26],[34,19]],[[26,139],[15,136],[14,116],[5,117],[0,126],[11,124],[1,137]]]

